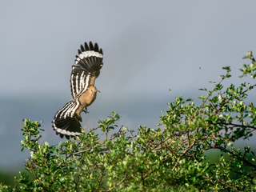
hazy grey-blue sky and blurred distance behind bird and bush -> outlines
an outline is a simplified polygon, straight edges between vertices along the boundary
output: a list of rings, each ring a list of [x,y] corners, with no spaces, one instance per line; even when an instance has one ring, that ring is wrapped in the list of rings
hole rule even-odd
[[[101,93],[82,114],[87,129],[112,111],[122,116],[118,125],[157,129],[166,103],[183,95],[200,104],[205,93],[198,89],[213,89],[209,81],[220,80],[223,66],[233,75],[226,86],[253,83],[238,78],[238,69],[256,51],[254,7],[255,1],[234,0],[2,1],[0,170],[30,156],[21,152],[22,118],[43,121],[42,143],[66,141],[51,121],[71,99],[71,66],[84,42],[97,42],[104,54],[95,82]]]

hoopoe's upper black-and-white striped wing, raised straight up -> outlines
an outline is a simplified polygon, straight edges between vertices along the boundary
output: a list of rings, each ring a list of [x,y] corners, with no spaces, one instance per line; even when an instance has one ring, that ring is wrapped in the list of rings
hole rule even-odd
[[[85,46],[81,45],[81,50],[78,50],[78,55],[74,60],[70,77],[70,88],[72,98],[78,98],[88,86],[94,85],[95,78],[98,78],[103,63],[102,49],[98,49],[98,44],[92,42],[89,46],[85,42]]]

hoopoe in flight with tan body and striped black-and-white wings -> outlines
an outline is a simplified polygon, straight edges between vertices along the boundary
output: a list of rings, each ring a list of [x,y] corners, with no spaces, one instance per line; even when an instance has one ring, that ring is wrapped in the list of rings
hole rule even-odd
[[[98,48],[97,43],[93,45],[90,42],[88,45],[85,42],[84,46],[80,46],[70,75],[70,90],[74,100],[70,100],[58,110],[52,121],[52,127],[61,138],[65,135],[70,139],[82,134],[81,112],[87,111],[87,106],[94,102],[97,92],[100,92],[94,82],[102,69],[102,60],[103,51]]]

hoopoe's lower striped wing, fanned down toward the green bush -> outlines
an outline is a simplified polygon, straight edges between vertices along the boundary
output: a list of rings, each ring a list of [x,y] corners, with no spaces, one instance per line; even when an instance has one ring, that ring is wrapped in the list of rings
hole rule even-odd
[[[82,119],[78,118],[78,115],[75,113],[77,109],[78,104],[74,101],[70,101],[55,114],[53,128],[56,130],[56,134],[60,134],[61,138],[65,135],[65,137],[69,139],[70,136],[82,134],[82,127],[79,122],[79,120],[82,121]]]

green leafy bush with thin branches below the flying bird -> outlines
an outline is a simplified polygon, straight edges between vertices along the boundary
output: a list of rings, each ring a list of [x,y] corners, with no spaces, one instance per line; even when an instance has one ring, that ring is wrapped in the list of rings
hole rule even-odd
[[[251,51],[246,55],[242,76],[256,77],[255,60]],[[49,146],[39,144],[40,125],[25,120],[22,150],[31,151],[26,170],[34,174],[34,181],[20,172],[20,186],[0,186],[1,191],[250,191],[256,190],[256,163],[250,146],[235,149],[239,138],[253,136],[256,129],[256,107],[246,105],[247,94],[256,86],[222,82],[230,78],[230,67],[223,67],[225,75],[206,91],[200,106],[191,98],[175,98],[162,114],[163,129],[139,126],[134,130],[121,126],[120,116],[113,112],[98,127],[69,141]],[[95,130],[101,130],[100,140]],[[222,151],[219,162],[206,162],[207,150]],[[229,158],[224,158],[227,154]]]

